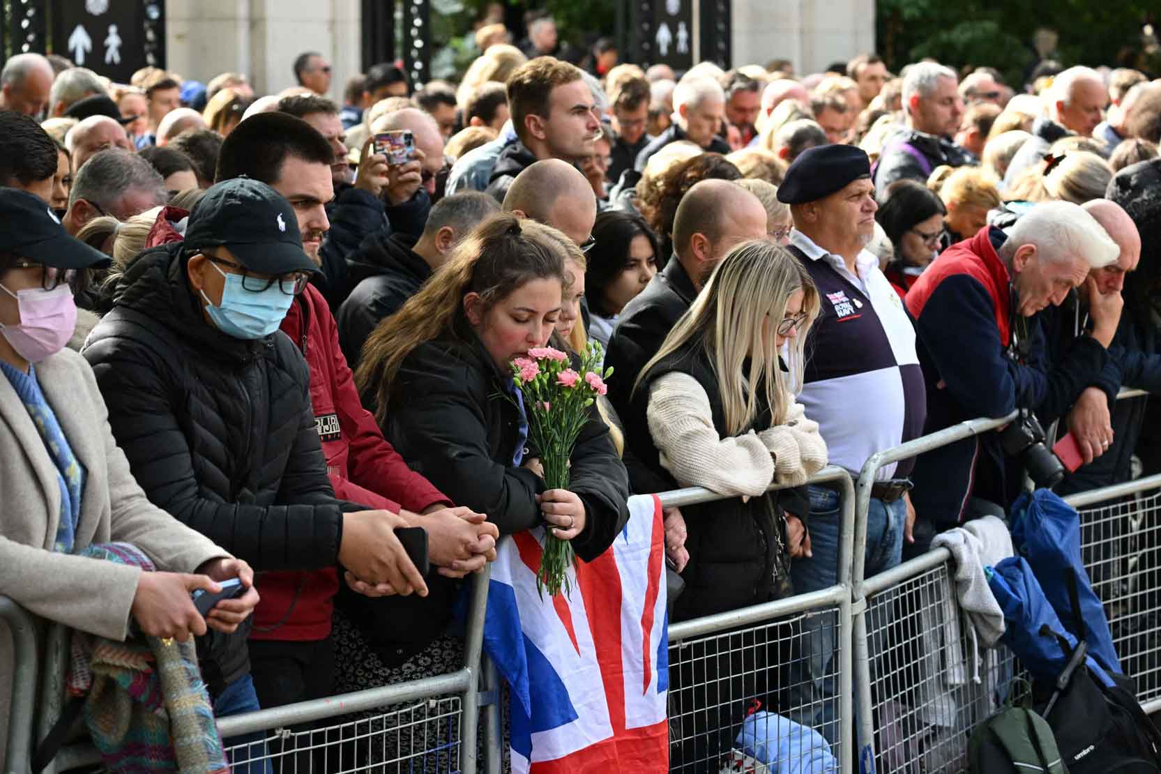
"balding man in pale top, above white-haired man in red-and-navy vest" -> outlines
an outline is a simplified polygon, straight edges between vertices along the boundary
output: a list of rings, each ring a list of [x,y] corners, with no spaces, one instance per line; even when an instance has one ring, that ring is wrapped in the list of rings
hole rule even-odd
[[[1011,186],[1029,167],[1039,164],[1048,147],[1061,137],[1091,137],[1104,118],[1109,92],[1101,73],[1091,67],[1069,67],[1052,80],[1044,95],[1047,115],[1032,123],[1032,137],[1024,142],[1008,165],[1004,186]]]

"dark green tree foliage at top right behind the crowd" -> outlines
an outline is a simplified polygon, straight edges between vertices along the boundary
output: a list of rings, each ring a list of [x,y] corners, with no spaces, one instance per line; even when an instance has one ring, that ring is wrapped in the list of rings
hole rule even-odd
[[[1038,58],[1037,28],[1059,32],[1055,57],[1066,66],[1147,68],[1141,28],[1161,20],[1156,0],[878,0],[875,10],[878,49],[893,70],[924,57],[989,65],[1017,88]]]

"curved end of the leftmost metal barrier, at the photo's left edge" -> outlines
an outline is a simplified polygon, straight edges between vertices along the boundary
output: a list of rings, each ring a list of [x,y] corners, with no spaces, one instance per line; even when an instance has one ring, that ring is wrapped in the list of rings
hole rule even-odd
[[[36,712],[37,636],[33,615],[0,595],[0,621],[12,632],[12,693],[8,702],[8,739],[5,774],[28,774],[33,758],[33,716]]]

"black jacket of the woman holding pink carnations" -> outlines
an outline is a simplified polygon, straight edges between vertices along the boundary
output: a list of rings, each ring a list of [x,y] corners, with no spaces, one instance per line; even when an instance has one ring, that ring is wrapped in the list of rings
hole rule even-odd
[[[383,434],[411,468],[456,505],[486,513],[509,535],[542,523],[535,495],[545,482],[513,465],[520,418],[503,396],[506,379],[471,333],[420,345],[404,361],[391,391]],[[589,562],[613,543],[629,518],[625,465],[596,406],[572,451],[569,490],[585,505],[584,530],[572,541]]]

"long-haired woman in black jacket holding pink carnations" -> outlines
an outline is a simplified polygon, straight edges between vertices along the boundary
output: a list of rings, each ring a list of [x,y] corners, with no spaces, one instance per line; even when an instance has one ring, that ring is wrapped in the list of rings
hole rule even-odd
[[[387,437],[454,502],[486,513],[502,535],[545,525],[587,560],[628,519],[625,466],[589,405],[569,485],[549,489],[528,439],[529,421],[550,421],[551,406],[529,406],[517,389],[535,378],[561,314],[563,241],[549,226],[492,216],[368,338],[355,378]]]

